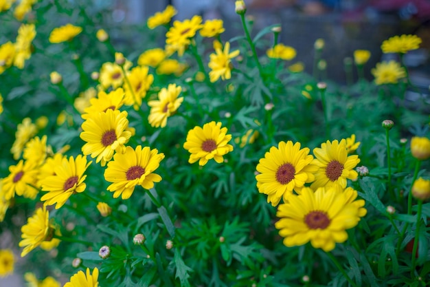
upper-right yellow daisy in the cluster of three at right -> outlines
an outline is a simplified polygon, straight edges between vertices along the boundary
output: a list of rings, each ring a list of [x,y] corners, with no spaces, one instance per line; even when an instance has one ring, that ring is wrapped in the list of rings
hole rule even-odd
[[[315,182],[310,188],[332,187],[339,185],[346,188],[346,180],[355,180],[359,174],[354,171],[354,167],[360,162],[359,156],[348,156],[346,140],[327,140],[321,144],[321,148],[313,149],[315,160],[312,164],[319,167],[315,173]]]

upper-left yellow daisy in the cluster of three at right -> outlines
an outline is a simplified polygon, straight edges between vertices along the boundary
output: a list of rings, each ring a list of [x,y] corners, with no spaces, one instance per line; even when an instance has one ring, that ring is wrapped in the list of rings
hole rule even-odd
[[[280,142],[278,148],[271,149],[264,154],[257,164],[257,187],[260,193],[267,194],[267,202],[273,206],[279,204],[281,198],[288,200],[293,190],[299,192],[304,184],[313,182],[313,173],[318,170],[315,164],[311,164],[313,156],[309,155],[309,149],[300,149],[300,143],[293,144]]]

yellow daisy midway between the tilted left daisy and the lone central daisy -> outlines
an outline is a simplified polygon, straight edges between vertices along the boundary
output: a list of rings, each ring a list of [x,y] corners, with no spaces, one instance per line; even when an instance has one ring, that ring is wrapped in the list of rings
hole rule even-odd
[[[113,198],[121,195],[123,200],[131,197],[136,185],[152,189],[154,182],[160,182],[161,176],[153,173],[158,169],[164,153],[138,145],[136,149],[126,147],[125,153],[115,153],[113,161],[108,163],[104,178],[113,182],[107,188],[113,192]]]

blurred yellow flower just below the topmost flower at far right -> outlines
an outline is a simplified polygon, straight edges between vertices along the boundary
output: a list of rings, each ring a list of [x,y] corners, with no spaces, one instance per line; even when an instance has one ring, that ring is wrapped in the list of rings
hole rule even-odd
[[[395,84],[400,78],[406,76],[405,69],[394,60],[377,63],[371,72],[375,77],[376,85]]]

